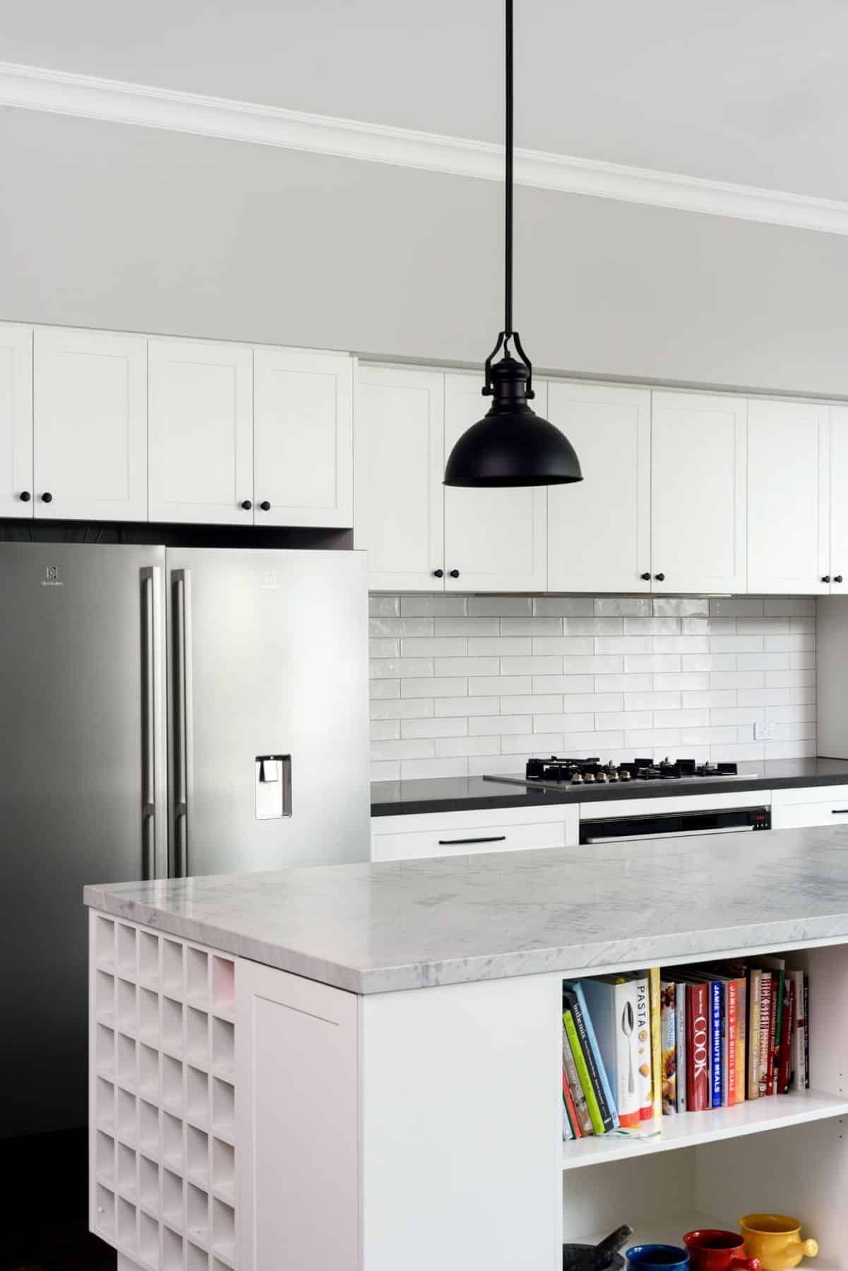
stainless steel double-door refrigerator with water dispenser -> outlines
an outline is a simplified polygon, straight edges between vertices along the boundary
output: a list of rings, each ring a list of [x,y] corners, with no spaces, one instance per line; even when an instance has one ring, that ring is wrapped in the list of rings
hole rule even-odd
[[[362,554],[0,543],[0,1138],[86,1120],[89,882],[369,858]]]

